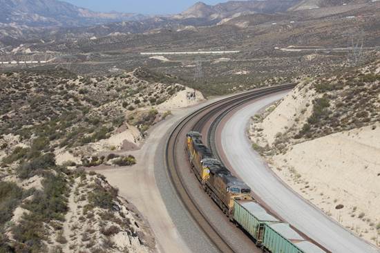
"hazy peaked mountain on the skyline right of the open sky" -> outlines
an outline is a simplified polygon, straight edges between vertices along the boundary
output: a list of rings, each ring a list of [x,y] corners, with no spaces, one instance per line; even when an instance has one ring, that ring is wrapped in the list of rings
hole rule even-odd
[[[174,19],[226,19],[253,13],[285,12],[301,0],[228,1],[209,6],[198,2],[188,10],[173,16]]]

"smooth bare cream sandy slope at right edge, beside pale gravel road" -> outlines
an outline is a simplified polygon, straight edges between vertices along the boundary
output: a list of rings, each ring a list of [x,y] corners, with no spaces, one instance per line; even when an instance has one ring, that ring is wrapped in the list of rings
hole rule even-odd
[[[380,124],[296,144],[274,156],[272,168],[327,215],[379,246],[379,136]]]

